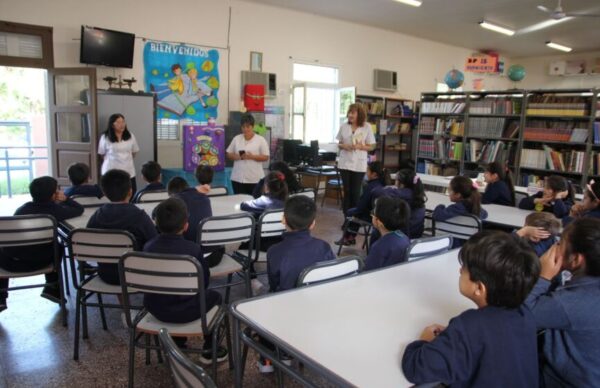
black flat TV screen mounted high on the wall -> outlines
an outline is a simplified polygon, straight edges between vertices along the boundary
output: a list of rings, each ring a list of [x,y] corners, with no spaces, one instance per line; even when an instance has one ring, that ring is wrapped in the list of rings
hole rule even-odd
[[[92,65],[133,67],[135,35],[104,28],[81,26],[79,61]]]

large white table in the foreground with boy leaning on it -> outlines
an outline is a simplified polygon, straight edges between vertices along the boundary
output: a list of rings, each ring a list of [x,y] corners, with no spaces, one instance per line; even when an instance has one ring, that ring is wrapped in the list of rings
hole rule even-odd
[[[453,250],[236,302],[230,307],[235,360],[240,360],[244,323],[335,386],[408,387],[401,367],[406,345],[427,325],[447,325],[450,318],[475,308],[458,290],[457,254]],[[238,364],[236,387],[241,378]]]

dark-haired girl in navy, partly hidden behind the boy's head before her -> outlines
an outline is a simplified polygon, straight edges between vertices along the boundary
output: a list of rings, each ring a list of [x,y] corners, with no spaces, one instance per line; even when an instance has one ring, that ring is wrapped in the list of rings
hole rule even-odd
[[[420,238],[425,228],[425,189],[416,172],[403,168],[396,174],[396,186],[385,186],[373,191],[373,200],[379,197],[392,197],[405,200],[410,206],[409,225],[403,232],[410,238]],[[371,244],[379,238],[374,233]]]

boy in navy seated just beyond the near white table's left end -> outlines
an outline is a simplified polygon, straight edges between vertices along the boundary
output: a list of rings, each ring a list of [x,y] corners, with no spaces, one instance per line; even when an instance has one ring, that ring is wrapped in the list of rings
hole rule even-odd
[[[296,288],[298,276],[305,269],[320,261],[334,260],[335,254],[331,246],[323,240],[312,237],[311,229],[315,227],[317,207],[315,201],[297,195],[288,199],[283,210],[286,232],[282,241],[267,251],[267,274],[269,290],[279,292]],[[264,346],[274,346],[261,338]],[[258,368],[262,373],[273,372],[271,361],[260,357]]]

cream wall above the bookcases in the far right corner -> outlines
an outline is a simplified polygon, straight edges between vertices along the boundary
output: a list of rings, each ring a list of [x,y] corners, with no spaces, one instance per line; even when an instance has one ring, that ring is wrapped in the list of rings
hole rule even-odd
[[[571,53],[563,55],[548,55],[534,58],[513,58],[513,63],[525,67],[527,75],[519,87],[534,89],[566,89],[566,88],[598,88],[600,74],[556,76],[548,75],[550,63],[553,61],[585,60],[588,66],[593,66],[600,58],[600,51],[590,53]]]

